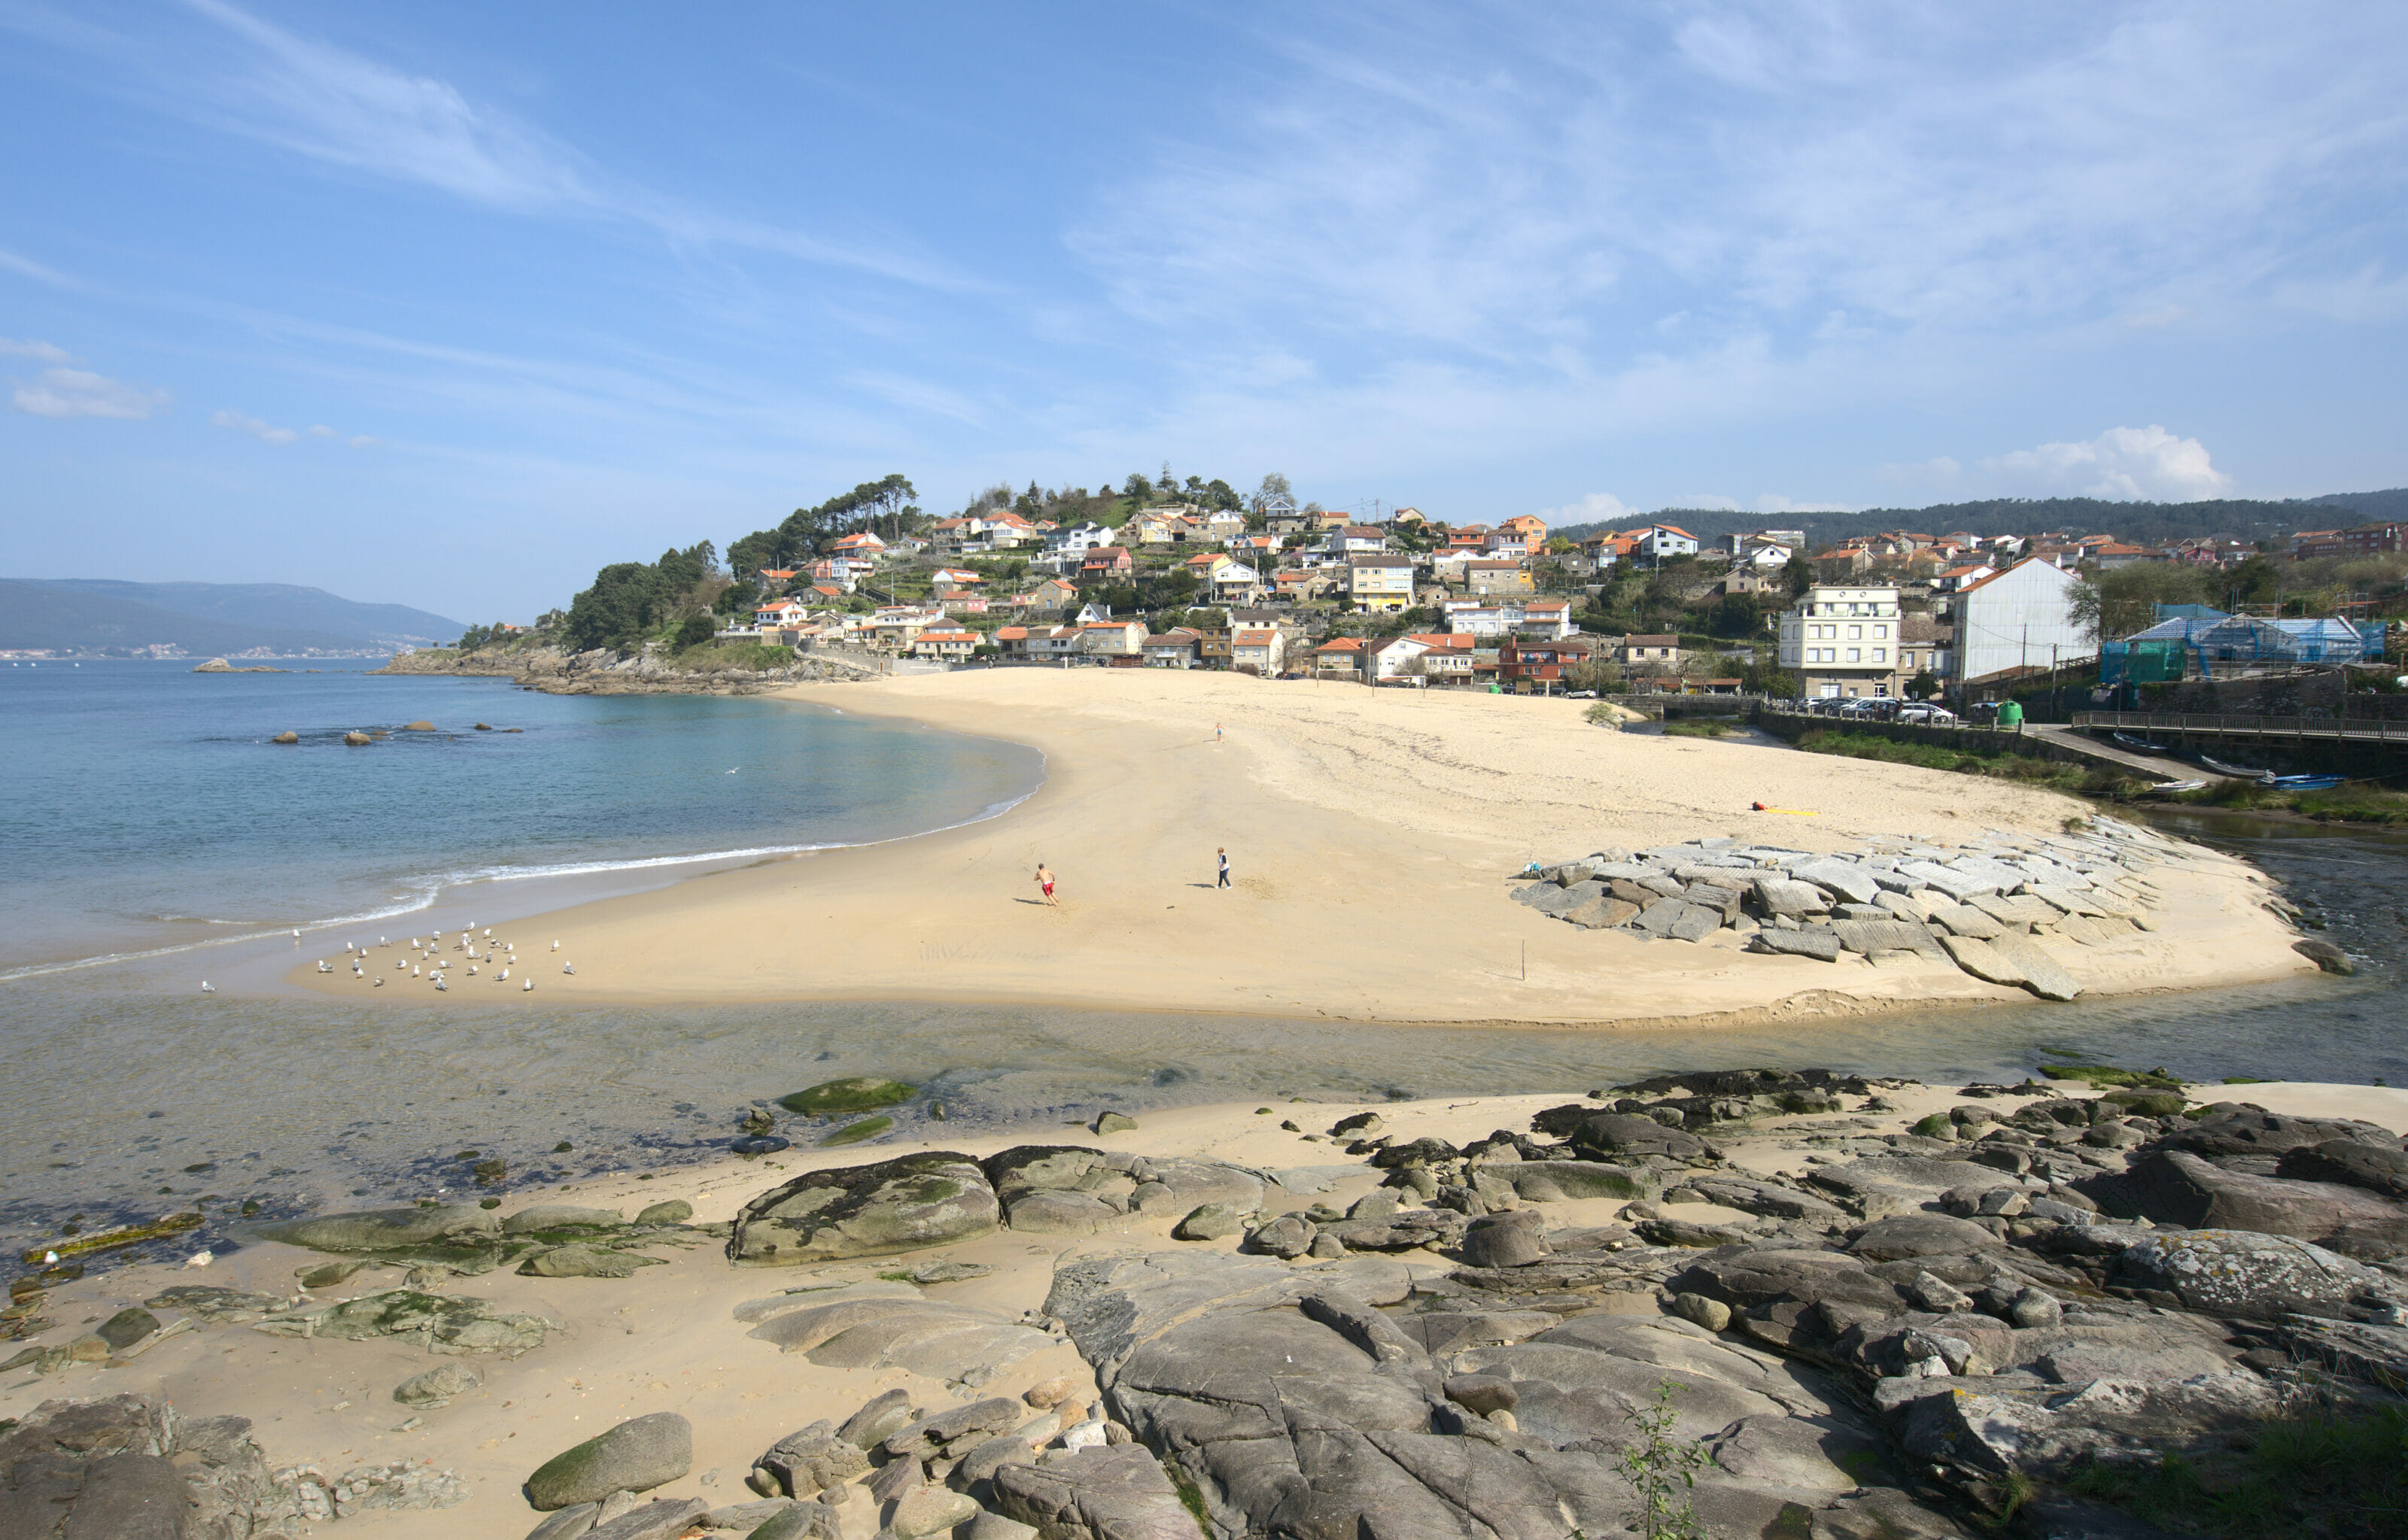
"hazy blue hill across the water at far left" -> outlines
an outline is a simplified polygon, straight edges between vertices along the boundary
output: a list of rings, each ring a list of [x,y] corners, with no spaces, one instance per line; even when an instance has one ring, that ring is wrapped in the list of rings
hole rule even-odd
[[[0,650],[366,657],[458,640],[460,621],[289,582],[0,578]]]

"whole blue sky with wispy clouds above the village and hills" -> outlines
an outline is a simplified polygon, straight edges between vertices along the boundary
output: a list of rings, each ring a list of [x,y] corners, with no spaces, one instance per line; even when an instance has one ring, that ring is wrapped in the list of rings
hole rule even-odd
[[[0,0],[7,575],[2408,481],[2398,5]]]

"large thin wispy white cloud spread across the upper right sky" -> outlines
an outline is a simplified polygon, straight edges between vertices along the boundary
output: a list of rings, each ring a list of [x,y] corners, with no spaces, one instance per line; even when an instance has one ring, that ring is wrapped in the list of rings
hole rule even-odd
[[[1305,354],[1300,428],[1413,366],[1584,407],[1517,416],[1524,450],[1760,419],[1816,375],[1926,407],[1984,354],[2264,313],[2384,238],[2408,164],[2386,7],[1327,14],[1281,12],[1255,89],[1158,128],[1067,236],[1146,327]],[[2331,303],[2408,303],[2362,291]]]

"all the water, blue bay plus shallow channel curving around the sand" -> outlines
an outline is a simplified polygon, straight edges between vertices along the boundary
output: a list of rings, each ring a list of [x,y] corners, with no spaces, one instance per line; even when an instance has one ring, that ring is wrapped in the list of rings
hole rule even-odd
[[[1026,792],[1038,765],[997,744],[763,700],[547,698],[494,681],[178,679],[157,664],[118,667],[128,674],[99,688],[67,681],[5,698],[19,715],[0,816],[39,840],[0,852],[0,895],[10,926],[46,936],[41,946],[12,938],[5,955],[19,975],[0,982],[0,1242],[12,1249],[77,1213],[92,1225],[195,1198],[248,1198],[277,1215],[458,1191],[465,1169],[453,1155],[465,1148],[503,1155],[513,1189],[706,1160],[725,1150],[746,1104],[855,1073],[925,1088],[901,1109],[898,1136],[939,1131],[939,1102],[946,1129],[1016,1124],[1045,1136],[1100,1107],[1577,1095],[1664,1068],[1743,1064],[1946,1083],[2023,1078],[2042,1061],[2088,1056],[2199,1080],[2408,1083],[2394,898],[2408,840],[2232,818],[2189,818],[2174,833],[2285,878],[2324,934],[2362,958],[2357,977],[1719,1032],[908,1003],[378,1011],[344,999],[200,999],[200,958],[217,967],[258,955],[282,967],[289,943],[67,970],[58,960],[190,946],[207,929],[255,934],[366,914],[429,890],[436,907],[414,914],[482,902],[501,917],[496,905],[513,893],[542,895],[518,907],[532,912],[592,883],[696,869],[633,861],[958,823]],[[7,674],[0,688],[19,691]],[[51,753],[77,763],[29,756],[17,732],[26,715]],[[342,727],[414,717],[527,732],[340,746]],[[282,727],[315,741],[267,748],[260,739]],[[513,876],[563,869],[576,876]],[[787,1133],[807,1141],[819,1129]],[[573,1150],[554,1153],[561,1141]],[[224,1239],[214,1225],[183,1244],[209,1239]]]

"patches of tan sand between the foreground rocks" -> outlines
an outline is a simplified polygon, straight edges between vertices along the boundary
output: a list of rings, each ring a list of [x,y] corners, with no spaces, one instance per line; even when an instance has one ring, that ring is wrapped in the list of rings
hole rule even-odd
[[[2090,1095],[2068,1085],[2061,1095]],[[648,1203],[684,1198],[694,1222],[730,1220],[744,1201],[792,1179],[804,1169],[891,1160],[925,1148],[992,1155],[1007,1145],[1045,1141],[1096,1145],[1144,1155],[1190,1155],[1233,1162],[1259,1172],[1286,1174],[1293,1189],[1269,1208],[1305,1203],[1346,1206],[1373,1191],[1380,1172],[1346,1162],[1336,1143],[1320,1133],[1356,1112],[1377,1112],[1394,1141],[1423,1136],[1466,1143],[1491,1129],[1519,1129],[1544,1109],[1577,1097],[1577,1088],[1529,1097],[1466,1097],[1387,1104],[1279,1104],[1269,1114],[1255,1104],[1187,1107],[1146,1114],[1141,1126],[1091,1136],[1081,1126],[1052,1131],[1023,1129],[1014,1136],[946,1141],[942,1145],[891,1143],[877,1150],[790,1150],[763,1160],[734,1160],[708,1167],[665,1169],[657,1174],[624,1172],[568,1189],[513,1194],[503,1213],[530,1203],[578,1203],[633,1215]],[[1885,1092],[1895,1112],[1857,1114],[1854,1119],[1770,1119],[1743,1138],[1727,1138],[1731,1162],[1753,1172],[1811,1169],[1830,1160],[1832,1133],[1878,1138],[1910,1129],[1929,1112],[1965,1107],[1953,1088],[1902,1088]],[[2300,1116],[2355,1116],[2394,1133],[2408,1131],[2408,1090],[2367,1085],[2266,1083],[2247,1088],[2194,1088],[2194,1097],[2247,1097],[2261,1107]],[[1281,1129],[1293,1121],[1296,1129]],[[1832,1126],[1837,1124],[1837,1129]],[[1820,1143],[1816,1143],[1820,1138]],[[1317,1167],[1317,1169],[1315,1169]],[[1975,1169],[1975,1167],[1965,1167]],[[1279,1189],[1274,1189],[1279,1191]],[[1548,1227],[1606,1225],[1621,1213],[1618,1198],[1546,1203]],[[1714,1203],[1662,1203],[1676,1220],[1722,1225],[1743,1220],[1739,1210]],[[1045,1302],[1055,1268],[1076,1256],[1137,1254],[1163,1249],[1230,1251],[1235,1239],[1173,1242],[1175,1213],[1129,1215],[1125,1225],[1096,1234],[1028,1234],[997,1230],[949,1246],[910,1251],[903,1258],[864,1258],[811,1268],[732,1268],[710,1237],[696,1237],[691,1249],[648,1246],[667,1266],[641,1268],[633,1278],[523,1278],[510,1270],[477,1278],[453,1278],[436,1285],[445,1295],[489,1299],[508,1311],[542,1314],[561,1328],[532,1352],[515,1360],[431,1357],[407,1338],[383,1343],[308,1340],[267,1335],[241,1323],[207,1323],[176,1309],[157,1314],[171,1328],[111,1367],[70,1364],[53,1374],[17,1372],[0,1379],[0,1420],[24,1417],[39,1403],[60,1396],[147,1393],[166,1398],[181,1417],[241,1415],[253,1422],[253,1437],[277,1468],[315,1465],[327,1477],[359,1465],[393,1461],[431,1461],[467,1482],[467,1502],[436,1514],[364,1511],[342,1518],[344,1535],[520,1535],[537,1523],[518,1485],[539,1463],[588,1439],[614,1422],[645,1412],[679,1412],[694,1422],[691,1475],[650,1497],[698,1497],[713,1506],[751,1502],[742,1487],[749,1463],[783,1434],[819,1417],[845,1417],[852,1408],[886,1388],[905,1388],[913,1403],[929,1410],[961,1405],[982,1396],[1019,1396],[1055,1376],[1072,1376],[1081,1403],[1096,1400],[1088,1364],[1069,1343],[1011,1362],[982,1386],[949,1386],[903,1369],[821,1367],[799,1352],[780,1352],[754,1340],[739,1316],[746,1302],[773,1299],[783,1290],[828,1287],[874,1280],[881,1268],[925,1266],[934,1261],[980,1263],[992,1268],[980,1278],[929,1285],[932,1299],[1016,1319]],[[1445,1273],[1440,1256],[1409,1254],[1428,1270]],[[219,1285],[262,1295],[294,1295],[294,1275],[323,1254],[260,1242],[217,1258],[207,1268],[137,1266],[58,1287],[46,1316],[63,1323],[87,1321],[89,1331],[113,1311],[154,1297],[173,1285]],[[1303,1266],[1310,1266],[1305,1258]],[[1418,1266],[1418,1263],[1416,1263]],[[371,1268],[342,1285],[320,1290],[315,1299],[347,1299],[402,1285],[402,1270]],[[756,1307],[759,1309],[759,1307]],[[1654,1292],[1635,1292],[1628,1309],[1654,1316]],[[178,1321],[188,1321],[178,1328]],[[43,1340],[65,1340],[43,1338]],[[395,1405],[393,1388],[436,1364],[470,1364],[482,1386],[465,1391],[445,1408],[412,1412]],[[405,1427],[409,1422],[409,1427]],[[879,1504],[855,1494],[840,1509],[848,1540],[867,1540],[879,1526]]]

